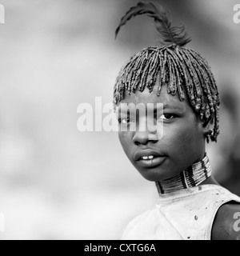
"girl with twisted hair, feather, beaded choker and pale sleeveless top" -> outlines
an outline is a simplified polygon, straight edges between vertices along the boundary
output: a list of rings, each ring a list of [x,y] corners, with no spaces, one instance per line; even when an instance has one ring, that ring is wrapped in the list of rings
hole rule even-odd
[[[240,198],[214,180],[206,154],[206,142],[217,142],[219,134],[210,67],[184,47],[190,42],[184,26],[172,27],[154,2],[132,7],[116,35],[139,14],[154,18],[162,46],[142,50],[122,67],[114,107],[122,148],[139,173],[156,183],[159,197],[153,209],[129,223],[122,239],[240,240]],[[139,104],[147,111],[134,110]],[[149,121],[158,129],[143,129]]]

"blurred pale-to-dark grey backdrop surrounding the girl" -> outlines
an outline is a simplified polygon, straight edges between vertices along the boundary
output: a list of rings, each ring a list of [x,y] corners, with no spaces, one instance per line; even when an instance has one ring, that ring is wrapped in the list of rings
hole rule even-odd
[[[130,55],[155,45],[150,18],[114,30],[135,0],[0,0],[0,239],[118,239],[154,205],[154,183],[130,165],[116,132],[77,129],[82,102],[112,101]],[[214,176],[240,194],[240,1],[161,0],[210,63],[222,99],[210,144]]]

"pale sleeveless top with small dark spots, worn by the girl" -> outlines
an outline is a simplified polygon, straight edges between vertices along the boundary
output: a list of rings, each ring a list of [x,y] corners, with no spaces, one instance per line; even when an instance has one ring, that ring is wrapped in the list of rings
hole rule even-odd
[[[162,194],[152,210],[126,226],[122,240],[210,240],[219,207],[230,201],[240,198],[218,185]]]

